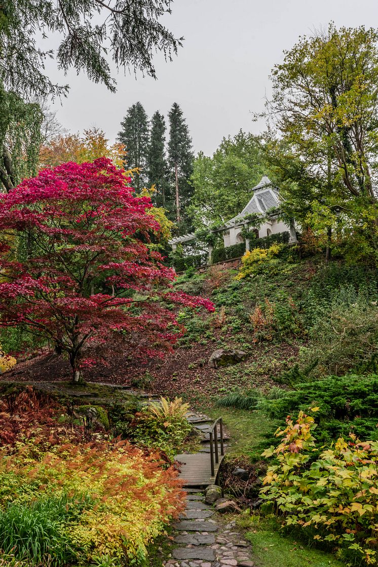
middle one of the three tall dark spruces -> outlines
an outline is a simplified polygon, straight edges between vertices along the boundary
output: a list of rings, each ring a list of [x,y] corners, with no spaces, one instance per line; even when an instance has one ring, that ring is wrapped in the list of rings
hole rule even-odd
[[[152,197],[157,206],[165,208],[168,191],[168,166],[165,159],[165,120],[164,116],[156,111],[151,119],[150,146],[147,155],[148,182],[154,184],[156,193]]]

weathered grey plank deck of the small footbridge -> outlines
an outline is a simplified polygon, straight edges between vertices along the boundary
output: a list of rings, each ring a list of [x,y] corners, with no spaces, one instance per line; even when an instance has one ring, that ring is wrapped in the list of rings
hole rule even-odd
[[[176,455],[175,459],[182,463],[180,465],[181,472],[179,477],[184,480],[184,486],[208,486],[209,484],[215,484],[223,456],[219,455],[219,463],[214,463],[214,476],[211,476],[209,453]]]

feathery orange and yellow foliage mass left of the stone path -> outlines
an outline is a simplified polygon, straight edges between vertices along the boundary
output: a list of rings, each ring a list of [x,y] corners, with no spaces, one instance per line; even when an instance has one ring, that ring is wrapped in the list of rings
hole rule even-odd
[[[0,461],[0,513],[10,504],[85,496],[92,504],[62,523],[77,562],[108,555],[114,565],[143,564],[148,545],[184,509],[177,472],[166,463],[163,468],[159,454],[128,442],[49,446],[46,441],[35,438],[18,443],[16,451],[0,450],[6,456]]]

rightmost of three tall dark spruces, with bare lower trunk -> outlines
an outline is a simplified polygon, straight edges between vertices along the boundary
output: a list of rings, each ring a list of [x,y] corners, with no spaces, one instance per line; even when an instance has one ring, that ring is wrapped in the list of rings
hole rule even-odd
[[[179,104],[172,104],[168,118],[168,163],[174,180],[176,219],[180,225],[182,221],[188,221],[185,209],[190,204],[190,197],[193,192],[189,179],[193,171],[194,155],[192,138]]]

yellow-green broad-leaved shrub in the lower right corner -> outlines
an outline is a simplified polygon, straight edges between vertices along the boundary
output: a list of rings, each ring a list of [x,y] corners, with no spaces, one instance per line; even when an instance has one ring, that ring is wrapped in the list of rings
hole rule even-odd
[[[315,411],[318,408],[313,408]],[[349,565],[377,565],[378,442],[339,438],[309,466],[316,428],[313,417],[299,412],[277,431],[278,447],[261,496],[284,526],[336,549]]]

